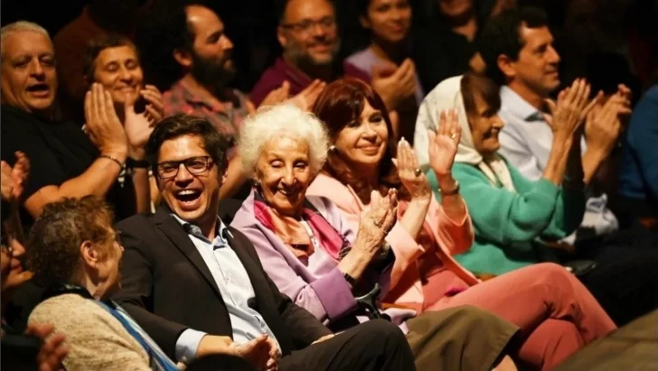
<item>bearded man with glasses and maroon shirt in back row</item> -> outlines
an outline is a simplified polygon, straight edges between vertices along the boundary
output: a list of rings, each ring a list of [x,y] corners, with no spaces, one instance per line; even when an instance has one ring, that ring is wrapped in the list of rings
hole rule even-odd
[[[370,76],[349,62],[336,60],[340,48],[334,5],[327,0],[287,0],[280,10],[277,39],[283,55],[263,73],[251,90],[259,105],[268,93],[287,81],[296,95],[317,81],[351,76],[370,82]]]

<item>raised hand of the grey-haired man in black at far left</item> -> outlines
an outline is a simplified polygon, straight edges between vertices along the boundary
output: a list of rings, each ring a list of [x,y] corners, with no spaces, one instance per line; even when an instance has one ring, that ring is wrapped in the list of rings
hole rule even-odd
[[[103,154],[125,157],[127,138],[109,92],[93,83],[85,96],[85,130]]]

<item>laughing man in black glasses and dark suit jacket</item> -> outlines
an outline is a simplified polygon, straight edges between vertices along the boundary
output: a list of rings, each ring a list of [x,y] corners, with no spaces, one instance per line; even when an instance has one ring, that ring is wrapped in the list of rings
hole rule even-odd
[[[247,237],[217,214],[225,148],[207,119],[176,115],[155,128],[146,153],[164,205],[118,224],[125,252],[115,299],[183,363],[229,353],[268,371],[414,370],[390,322],[334,337],[277,290]]]

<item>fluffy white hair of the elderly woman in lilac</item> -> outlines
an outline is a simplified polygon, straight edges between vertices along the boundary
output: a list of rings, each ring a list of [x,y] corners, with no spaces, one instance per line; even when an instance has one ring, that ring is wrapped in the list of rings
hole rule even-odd
[[[292,104],[280,104],[258,109],[242,124],[238,150],[243,170],[251,175],[263,146],[271,139],[282,137],[304,140],[308,145],[308,165],[312,174],[322,169],[329,149],[329,136],[324,124],[312,113]]]

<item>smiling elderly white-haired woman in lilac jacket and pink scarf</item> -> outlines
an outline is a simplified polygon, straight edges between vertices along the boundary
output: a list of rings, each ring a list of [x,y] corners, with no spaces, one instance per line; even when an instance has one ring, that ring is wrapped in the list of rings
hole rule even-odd
[[[261,109],[244,123],[238,148],[255,186],[231,225],[249,237],[269,277],[297,305],[334,331],[391,319],[407,333],[419,370],[515,369],[504,355],[517,329],[483,310],[457,307],[416,318],[411,309],[381,311],[377,298],[362,305],[373,287],[381,288],[380,298],[389,288],[395,257],[384,237],[396,221],[397,195],[373,193],[356,233],[331,201],[306,196],[328,149],[313,115],[291,105]]]

